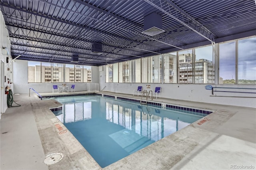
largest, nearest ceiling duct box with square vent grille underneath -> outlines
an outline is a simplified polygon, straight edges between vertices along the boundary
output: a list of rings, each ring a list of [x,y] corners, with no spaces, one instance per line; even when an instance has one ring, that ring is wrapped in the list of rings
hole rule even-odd
[[[164,32],[162,30],[162,16],[153,12],[144,17],[144,30],[142,33],[149,36],[154,36]]]

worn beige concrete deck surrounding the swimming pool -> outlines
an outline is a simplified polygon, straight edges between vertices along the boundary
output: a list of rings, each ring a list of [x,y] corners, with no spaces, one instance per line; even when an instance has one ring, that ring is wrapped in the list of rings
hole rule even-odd
[[[74,92],[73,92],[74,93]],[[88,93],[80,91],[75,93]],[[138,96],[97,92],[140,99]],[[40,93],[58,95],[60,93]],[[69,94],[69,93],[63,93]],[[226,99],[226,98],[225,98]],[[84,147],[48,108],[61,104],[41,101],[28,94],[14,95],[21,107],[10,107],[1,115],[1,170],[46,169],[256,169],[256,109],[172,99],[153,99],[216,110],[207,117],[153,144],[101,168]],[[13,103],[13,106],[16,104]],[[200,123],[201,122],[201,123]],[[64,132],[67,130],[67,132]],[[48,154],[61,152],[64,158],[44,164]],[[249,169],[249,168],[248,168]]]

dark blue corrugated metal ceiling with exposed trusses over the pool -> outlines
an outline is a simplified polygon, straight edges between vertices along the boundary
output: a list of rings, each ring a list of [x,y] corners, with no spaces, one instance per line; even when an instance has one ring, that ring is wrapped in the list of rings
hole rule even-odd
[[[254,0],[0,0],[0,8],[12,58],[31,61],[70,63],[77,54],[78,64],[99,66],[256,32]],[[155,36],[142,33],[152,12],[165,31]],[[92,54],[94,43],[102,54]]]

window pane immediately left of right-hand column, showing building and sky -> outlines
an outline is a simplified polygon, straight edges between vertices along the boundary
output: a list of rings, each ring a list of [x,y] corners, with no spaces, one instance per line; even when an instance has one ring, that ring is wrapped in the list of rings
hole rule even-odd
[[[195,49],[195,83],[214,83],[212,45]]]

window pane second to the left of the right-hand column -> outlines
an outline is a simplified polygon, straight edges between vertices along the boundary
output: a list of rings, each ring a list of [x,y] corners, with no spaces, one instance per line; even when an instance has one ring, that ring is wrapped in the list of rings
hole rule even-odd
[[[179,83],[193,83],[193,56],[192,49],[178,51]]]

